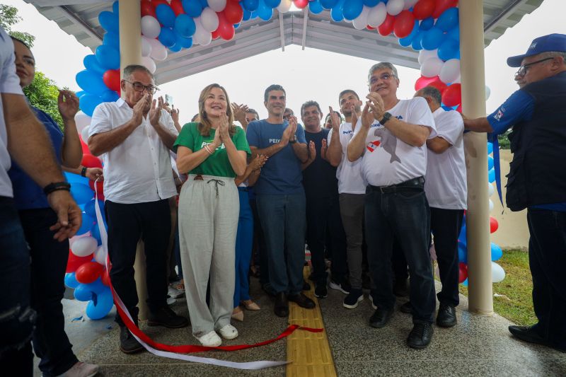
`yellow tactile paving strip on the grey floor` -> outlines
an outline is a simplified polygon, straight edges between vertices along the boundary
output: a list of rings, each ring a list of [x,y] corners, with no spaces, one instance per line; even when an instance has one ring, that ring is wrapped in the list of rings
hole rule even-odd
[[[309,267],[304,268],[305,278],[310,273]],[[304,292],[316,303],[314,309],[304,309],[289,303],[289,323],[314,328],[324,328],[323,315],[314,296],[314,284],[311,291]],[[287,337],[287,377],[336,376],[336,369],[326,330],[323,332],[308,332],[297,330]]]

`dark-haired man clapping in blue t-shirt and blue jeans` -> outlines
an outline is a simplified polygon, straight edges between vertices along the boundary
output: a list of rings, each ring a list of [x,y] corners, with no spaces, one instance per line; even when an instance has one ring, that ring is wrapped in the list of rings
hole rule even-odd
[[[269,160],[262,168],[254,190],[257,196],[269,265],[270,284],[275,291],[275,314],[289,315],[289,301],[303,308],[315,303],[302,294],[305,261],[305,192],[301,185],[301,163],[308,159],[305,132],[296,117],[283,120],[287,98],[280,85],[265,89],[265,120],[248,124],[246,136],[252,153]]]

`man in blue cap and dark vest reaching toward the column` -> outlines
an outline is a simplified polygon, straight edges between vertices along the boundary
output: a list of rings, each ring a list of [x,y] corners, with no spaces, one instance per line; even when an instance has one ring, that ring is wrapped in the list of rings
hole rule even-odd
[[[526,342],[566,352],[566,35],[538,37],[526,54],[507,59],[526,83],[491,115],[464,120],[467,129],[502,134],[513,161],[507,207],[527,209],[533,306],[538,323],[509,326]]]

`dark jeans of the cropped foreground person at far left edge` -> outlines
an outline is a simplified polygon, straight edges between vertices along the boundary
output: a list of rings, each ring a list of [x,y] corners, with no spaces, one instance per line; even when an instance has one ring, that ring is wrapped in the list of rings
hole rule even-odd
[[[0,371],[33,375],[30,252],[12,198],[0,197]]]

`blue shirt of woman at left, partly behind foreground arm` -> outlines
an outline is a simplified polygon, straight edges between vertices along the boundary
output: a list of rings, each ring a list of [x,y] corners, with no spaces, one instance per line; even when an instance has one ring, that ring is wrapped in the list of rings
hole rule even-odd
[[[33,110],[35,111],[37,120],[44,125],[47,134],[49,134],[57,162],[60,166],[63,132],[61,132],[57,122],[55,122],[47,112],[38,108],[33,108]],[[29,153],[33,153],[33,151],[29,151]],[[43,193],[43,188],[37,185],[37,183],[18,166],[16,161],[12,160],[12,167],[8,170],[8,175],[12,181],[13,199],[18,209],[40,209],[49,207],[47,197]]]

